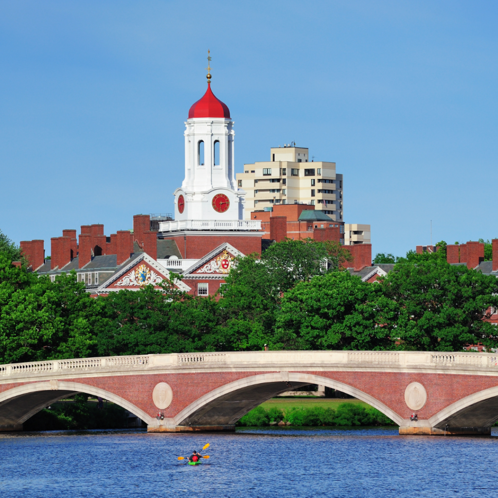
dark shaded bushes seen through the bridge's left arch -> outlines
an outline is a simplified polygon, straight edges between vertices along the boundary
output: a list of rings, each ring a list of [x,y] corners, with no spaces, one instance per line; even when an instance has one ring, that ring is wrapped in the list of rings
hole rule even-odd
[[[98,409],[88,402],[88,394],[75,394],[74,401],[54,403],[24,422],[25,431],[70,429],[123,429],[127,427],[127,411],[113,403]]]

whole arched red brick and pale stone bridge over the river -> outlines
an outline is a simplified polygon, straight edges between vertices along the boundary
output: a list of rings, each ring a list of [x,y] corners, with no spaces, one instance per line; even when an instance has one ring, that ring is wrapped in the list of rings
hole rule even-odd
[[[306,384],[369,403],[400,434],[490,434],[498,420],[496,354],[264,351],[0,365],[0,430],[22,430],[39,410],[86,392],[124,407],[150,432],[233,431],[255,406]]]

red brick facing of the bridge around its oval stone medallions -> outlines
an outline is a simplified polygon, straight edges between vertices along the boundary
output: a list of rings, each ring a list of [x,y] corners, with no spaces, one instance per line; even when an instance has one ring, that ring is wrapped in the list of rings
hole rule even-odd
[[[173,390],[173,400],[162,410],[165,417],[174,417],[201,396],[230,382],[254,375],[274,372],[198,372],[148,373],[102,377],[64,378],[67,382],[92,385],[114,393],[154,417],[159,411],[153,404],[152,391],[159,382],[167,382]],[[327,377],[371,395],[404,419],[412,410],[406,406],[404,391],[411,382],[420,382],[427,391],[426,404],[417,411],[419,420],[427,420],[456,401],[477,392],[498,386],[498,377],[486,375],[399,372],[326,372],[301,371]],[[195,381],[192,381],[195,378]],[[37,382],[37,380],[33,380]],[[0,384],[0,392],[33,382]],[[48,382],[47,382],[48,384]],[[188,388],[186,388],[188,386]]]

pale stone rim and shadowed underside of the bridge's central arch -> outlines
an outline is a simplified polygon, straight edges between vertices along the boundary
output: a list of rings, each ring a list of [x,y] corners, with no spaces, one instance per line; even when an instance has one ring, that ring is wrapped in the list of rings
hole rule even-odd
[[[351,385],[310,373],[276,372],[236,380],[200,397],[178,413],[177,426],[229,426],[264,401],[282,392],[307,384],[320,384],[365,401],[393,422],[402,425],[403,418],[366,392]]]

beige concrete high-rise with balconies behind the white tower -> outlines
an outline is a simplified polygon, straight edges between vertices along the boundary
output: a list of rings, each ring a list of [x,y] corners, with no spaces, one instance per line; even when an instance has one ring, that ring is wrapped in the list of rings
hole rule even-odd
[[[270,160],[245,164],[237,186],[247,192],[244,219],[275,204],[310,204],[343,221],[343,175],[335,162],[310,162],[306,147],[271,147]]]

